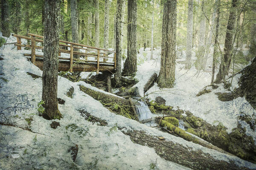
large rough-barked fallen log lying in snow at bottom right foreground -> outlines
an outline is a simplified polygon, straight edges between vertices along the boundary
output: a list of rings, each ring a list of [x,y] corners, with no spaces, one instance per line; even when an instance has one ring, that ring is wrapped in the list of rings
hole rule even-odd
[[[123,133],[130,136],[132,142],[153,148],[161,158],[194,170],[249,170],[232,162],[217,160],[201,150],[192,150],[181,144],[161,140],[143,131],[134,130]]]

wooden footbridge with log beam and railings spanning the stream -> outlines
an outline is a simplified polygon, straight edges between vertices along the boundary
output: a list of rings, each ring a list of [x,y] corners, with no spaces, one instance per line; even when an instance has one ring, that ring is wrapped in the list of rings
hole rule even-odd
[[[41,42],[41,44],[43,44],[44,37],[30,33],[28,33],[28,35],[30,37],[12,34],[12,36],[17,37],[17,43],[15,44],[17,46],[17,50],[21,50],[21,47],[31,48],[31,54],[24,54],[24,56],[31,59],[31,62],[34,65],[43,70],[44,56],[36,54],[35,49],[41,49],[43,51],[44,46],[38,46],[36,45],[36,42]],[[21,44],[21,39],[30,40],[31,45]],[[58,71],[96,71],[98,74],[99,71],[114,72],[116,70],[116,51],[63,40],[59,40],[59,46]],[[70,55],[61,57],[61,53]],[[113,56],[110,57],[108,56],[109,54],[113,54]],[[74,55],[79,55],[79,59],[74,58]]]

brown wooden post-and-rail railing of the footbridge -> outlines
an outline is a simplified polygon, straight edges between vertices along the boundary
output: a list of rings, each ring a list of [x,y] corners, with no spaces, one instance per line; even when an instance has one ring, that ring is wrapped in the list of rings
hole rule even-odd
[[[31,54],[24,54],[24,56],[31,56],[31,62],[35,64],[35,58],[40,57],[43,58],[43,55],[35,54],[35,49],[44,49],[43,46],[36,45],[36,42],[44,42],[44,37],[37,34],[31,34],[28,33],[30,37],[18,35],[18,34],[12,34],[12,36],[17,37],[17,43],[15,44],[17,46],[17,50],[21,50],[21,47],[27,47],[31,48]],[[26,39],[31,41],[31,45],[28,44],[21,44],[21,39]],[[58,57],[58,59],[64,59],[70,61],[70,72],[73,71],[73,61],[75,62],[87,62],[91,64],[97,64],[96,73],[99,73],[99,65],[100,64],[107,64],[107,65],[113,65],[113,68],[116,69],[116,51],[111,51],[103,48],[97,48],[92,47],[89,45],[83,45],[75,42],[68,42],[59,40],[59,56],[61,56],[61,53],[67,53],[70,54],[70,58],[64,58],[64,57]],[[62,47],[62,48],[61,48]],[[63,49],[65,48],[65,49]],[[67,48],[70,48],[69,50]],[[74,50],[74,49],[77,50]],[[80,50],[84,50],[85,52],[81,52]],[[79,55],[79,59],[74,58],[75,55]],[[113,54],[113,57],[108,56],[109,54]],[[84,57],[84,59],[80,59],[80,57]],[[93,59],[88,60],[88,57],[93,57]],[[100,59],[103,59],[103,61],[100,61]],[[113,62],[108,61],[109,59],[113,59]]]

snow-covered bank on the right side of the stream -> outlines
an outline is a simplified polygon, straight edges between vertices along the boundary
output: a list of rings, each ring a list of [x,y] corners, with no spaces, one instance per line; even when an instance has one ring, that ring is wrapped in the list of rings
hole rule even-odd
[[[136,78],[140,80],[134,86],[137,86],[140,91],[140,95],[143,94],[143,87],[148,81],[149,77],[156,72],[157,75],[160,71],[160,49],[154,51],[154,60],[150,60],[150,48],[140,49],[140,53],[144,53],[147,57],[142,65],[138,66]],[[212,56],[210,53],[209,57]],[[138,55],[140,57],[140,54]],[[178,62],[185,61],[186,55],[183,55]],[[195,60],[195,53],[192,53],[192,59]],[[208,61],[209,62],[209,61]],[[238,80],[241,74],[237,74],[232,81],[232,88],[238,88]],[[237,127],[237,117],[243,113],[247,113],[250,116],[256,116],[256,110],[254,110],[244,97],[239,97],[229,102],[221,102],[218,100],[216,92],[229,92],[224,89],[224,85],[221,84],[217,89],[211,89],[212,92],[206,95],[196,96],[200,90],[211,82],[211,73],[208,71],[197,71],[194,66],[190,70],[184,69],[184,64],[176,62],[175,69],[175,86],[169,89],[160,89],[155,84],[150,88],[146,95],[149,99],[155,99],[157,96],[161,96],[166,100],[166,105],[173,106],[175,109],[179,107],[182,110],[190,111],[195,116],[201,117],[210,124],[218,125],[221,122],[228,128],[228,132],[231,132],[234,127]],[[229,79],[231,81],[231,79]],[[256,141],[256,132],[250,129],[250,126],[244,121],[239,122],[246,127],[247,135],[253,136]]]

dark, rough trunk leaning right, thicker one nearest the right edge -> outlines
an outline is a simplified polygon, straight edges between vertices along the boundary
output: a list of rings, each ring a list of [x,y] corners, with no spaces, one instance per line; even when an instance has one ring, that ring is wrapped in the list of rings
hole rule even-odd
[[[231,62],[231,54],[233,48],[233,37],[234,37],[234,27],[236,23],[236,7],[238,3],[237,0],[232,0],[232,9],[230,10],[229,19],[227,22],[227,31],[224,44],[224,57],[221,56],[221,65],[219,67],[218,74],[216,75],[215,83],[220,83],[221,80],[228,74]]]

